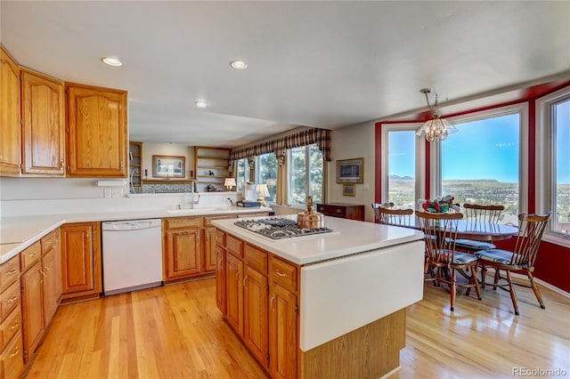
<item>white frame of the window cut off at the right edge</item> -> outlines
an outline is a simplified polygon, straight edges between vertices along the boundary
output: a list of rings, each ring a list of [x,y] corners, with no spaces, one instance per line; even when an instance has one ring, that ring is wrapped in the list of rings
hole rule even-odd
[[[550,210],[556,216],[556,197],[553,181],[556,180],[556,141],[554,131],[556,127],[552,124],[552,107],[556,104],[570,100],[570,87],[566,86],[558,91],[542,96],[535,101],[535,206],[536,212],[545,214]],[[542,239],[560,246],[570,247],[570,234],[563,234],[553,230],[554,223],[550,222]]]

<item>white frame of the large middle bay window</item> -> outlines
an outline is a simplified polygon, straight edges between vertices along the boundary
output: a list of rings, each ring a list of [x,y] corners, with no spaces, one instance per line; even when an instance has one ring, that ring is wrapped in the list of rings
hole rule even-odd
[[[529,157],[529,141],[528,141],[528,103],[517,103],[506,107],[480,110],[477,112],[466,113],[456,117],[446,117],[453,125],[464,124],[468,122],[485,120],[487,118],[501,117],[512,114],[518,114],[519,133],[518,133],[518,213],[528,212],[528,157]],[[460,133],[460,132],[459,132]],[[430,188],[431,198],[440,196],[442,191],[442,141],[433,141],[430,146]]]

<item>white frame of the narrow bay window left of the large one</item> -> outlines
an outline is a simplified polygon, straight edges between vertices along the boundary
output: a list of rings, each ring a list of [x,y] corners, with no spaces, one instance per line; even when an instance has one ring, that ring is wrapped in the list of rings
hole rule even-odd
[[[380,149],[382,151],[381,160],[381,202],[387,202],[388,199],[388,133],[390,132],[417,132],[423,123],[403,123],[403,124],[382,124]],[[426,196],[426,140],[424,137],[416,135],[416,167],[415,167],[415,193],[416,197],[424,198]]]

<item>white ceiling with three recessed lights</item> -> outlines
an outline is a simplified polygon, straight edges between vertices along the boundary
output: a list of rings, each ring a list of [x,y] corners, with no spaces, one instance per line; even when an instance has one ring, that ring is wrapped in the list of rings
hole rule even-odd
[[[0,12],[22,66],[127,90],[134,141],[234,147],[422,109],[422,87],[454,101],[570,77],[570,1],[2,0]]]

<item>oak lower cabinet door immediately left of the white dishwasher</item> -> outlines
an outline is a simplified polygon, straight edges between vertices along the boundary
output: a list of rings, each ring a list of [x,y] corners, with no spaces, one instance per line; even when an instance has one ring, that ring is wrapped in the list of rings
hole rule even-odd
[[[61,284],[63,294],[91,291],[94,280],[94,245],[91,223],[61,227]]]

